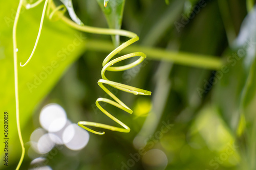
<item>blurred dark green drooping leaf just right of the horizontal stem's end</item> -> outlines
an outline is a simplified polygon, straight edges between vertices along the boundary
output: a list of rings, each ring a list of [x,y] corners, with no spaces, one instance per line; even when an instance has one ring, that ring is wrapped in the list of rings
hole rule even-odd
[[[243,59],[238,56],[238,50],[229,50],[225,53],[224,65],[211,80],[216,84],[213,91],[214,102],[218,105],[222,118],[233,132],[236,131],[239,123],[240,97],[246,77]],[[207,90],[208,86],[209,83],[205,83],[204,89]]]

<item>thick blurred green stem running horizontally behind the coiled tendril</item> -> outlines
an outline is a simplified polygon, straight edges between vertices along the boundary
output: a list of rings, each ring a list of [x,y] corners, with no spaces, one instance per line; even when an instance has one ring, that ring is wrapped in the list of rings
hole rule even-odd
[[[111,49],[114,48],[114,45],[110,41],[90,39],[87,42],[88,43],[86,43],[86,46],[88,50],[109,53]],[[121,53],[131,53],[136,51],[145,53],[150,59],[165,60],[187,66],[218,70],[223,65],[221,59],[214,56],[198,55],[185,52],[172,52],[156,47],[131,45],[127,48],[124,48]]]

